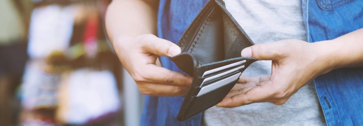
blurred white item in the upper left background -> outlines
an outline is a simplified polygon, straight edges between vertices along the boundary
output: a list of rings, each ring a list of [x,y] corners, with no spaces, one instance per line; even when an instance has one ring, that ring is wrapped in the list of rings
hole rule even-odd
[[[74,25],[73,6],[48,5],[34,8],[29,27],[31,59],[47,57],[53,50],[65,51]]]

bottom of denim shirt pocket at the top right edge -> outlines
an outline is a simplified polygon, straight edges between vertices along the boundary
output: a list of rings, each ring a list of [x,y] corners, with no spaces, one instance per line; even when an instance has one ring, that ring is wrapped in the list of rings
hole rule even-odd
[[[323,10],[334,10],[352,1],[354,0],[317,0],[317,3]]]

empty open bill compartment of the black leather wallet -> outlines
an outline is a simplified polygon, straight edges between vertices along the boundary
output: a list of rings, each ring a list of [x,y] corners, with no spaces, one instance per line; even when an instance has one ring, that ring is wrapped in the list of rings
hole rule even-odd
[[[222,0],[210,0],[177,45],[182,53],[170,59],[193,76],[193,67],[240,57],[242,49],[254,43],[225,9]]]

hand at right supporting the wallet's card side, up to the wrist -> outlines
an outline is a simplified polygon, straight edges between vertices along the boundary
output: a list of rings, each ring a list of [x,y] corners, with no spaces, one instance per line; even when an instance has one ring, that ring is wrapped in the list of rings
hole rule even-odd
[[[259,102],[284,104],[313,78],[333,69],[319,58],[316,47],[301,40],[282,40],[242,50],[243,57],[272,60],[272,73],[262,77],[241,76],[238,84],[216,106],[232,108]]]

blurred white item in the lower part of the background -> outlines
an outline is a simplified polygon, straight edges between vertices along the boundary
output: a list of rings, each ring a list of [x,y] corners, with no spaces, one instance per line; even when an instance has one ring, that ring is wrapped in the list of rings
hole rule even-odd
[[[79,125],[112,120],[119,111],[117,83],[110,71],[78,69],[68,73],[63,83],[57,120]]]

